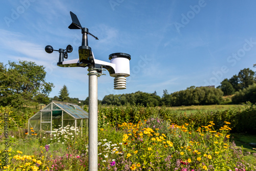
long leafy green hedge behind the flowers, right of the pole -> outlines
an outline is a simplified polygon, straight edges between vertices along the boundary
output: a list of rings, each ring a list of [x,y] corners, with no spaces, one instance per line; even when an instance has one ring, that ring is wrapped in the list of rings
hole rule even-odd
[[[219,129],[224,121],[230,122],[232,132],[256,133],[256,105],[247,103],[229,110],[199,110],[194,114],[186,114],[170,108],[144,107],[144,106],[104,106],[98,108],[99,127],[110,125],[118,127],[123,122],[138,123],[150,117],[159,117],[171,123],[182,125],[189,123],[195,129],[214,121],[215,129]]]

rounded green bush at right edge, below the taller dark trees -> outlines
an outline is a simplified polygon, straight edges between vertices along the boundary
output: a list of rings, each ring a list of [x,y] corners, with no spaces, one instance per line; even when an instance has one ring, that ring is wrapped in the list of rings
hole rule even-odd
[[[256,102],[256,83],[250,85],[248,88],[239,90],[232,97],[232,102],[235,104],[245,103],[247,101],[250,101],[251,103]]]

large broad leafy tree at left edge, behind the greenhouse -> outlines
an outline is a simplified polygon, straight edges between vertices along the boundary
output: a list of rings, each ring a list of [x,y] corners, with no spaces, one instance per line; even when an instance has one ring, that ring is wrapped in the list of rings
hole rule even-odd
[[[0,65],[0,105],[48,103],[53,83],[46,82],[46,71],[31,61],[8,62],[9,68]]]

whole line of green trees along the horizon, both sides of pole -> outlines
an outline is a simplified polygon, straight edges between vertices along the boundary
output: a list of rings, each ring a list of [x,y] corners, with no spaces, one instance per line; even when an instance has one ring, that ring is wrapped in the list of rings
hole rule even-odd
[[[51,100],[59,100],[89,104],[89,97],[85,100],[70,98],[67,86],[59,92],[59,96],[49,98],[54,87],[46,81],[46,71],[43,66],[37,66],[31,61],[9,61],[8,66],[0,62],[0,105],[11,105],[14,108],[31,106],[40,103],[48,104]],[[130,94],[106,95],[100,104],[106,105],[143,105],[143,106],[180,106],[207,105],[223,103],[223,95],[233,95],[232,103],[256,102],[255,72],[249,68],[241,70],[238,75],[225,78],[217,88],[191,86],[186,90],[168,93],[163,90],[160,97],[156,92],[135,92]],[[231,102],[231,100],[230,100]]]

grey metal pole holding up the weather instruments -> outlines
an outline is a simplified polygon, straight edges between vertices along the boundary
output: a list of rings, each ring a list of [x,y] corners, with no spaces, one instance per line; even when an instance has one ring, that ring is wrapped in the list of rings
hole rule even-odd
[[[89,171],[98,170],[98,74],[89,66]]]

